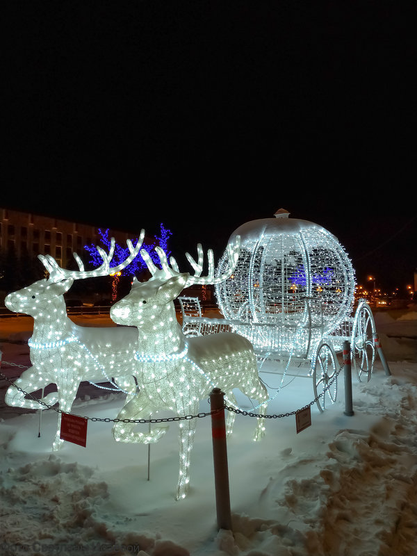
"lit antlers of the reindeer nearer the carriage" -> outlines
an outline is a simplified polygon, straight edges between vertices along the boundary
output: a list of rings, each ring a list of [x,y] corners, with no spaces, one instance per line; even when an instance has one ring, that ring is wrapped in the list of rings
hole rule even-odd
[[[165,273],[165,276],[167,278],[180,274],[177,261],[174,259],[174,257],[170,257],[170,263],[168,263],[167,255],[165,254],[165,251],[161,247],[155,247],[155,251],[158,253],[159,261],[161,261],[162,270]],[[204,284],[204,285],[220,284],[220,282],[227,280],[227,278],[231,276],[231,274],[234,272],[234,269],[236,268],[239,252],[240,252],[240,236],[236,236],[236,240],[234,241],[234,243],[227,244],[227,256],[229,258],[229,264],[227,265],[226,270],[224,270],[224,272],[222,272],[222,274],[219,275],[218,277],[215,277],[213,250],[209,249],[207,251],[208,273],[206,277],[202,277],[204,254],[203,254],[202,245],[199,243],[197,245],[197,256],[198,256],[197,262],[193,259],[193,257],[189,253],[186,253],[188,262],[193,267],[195,274],[194,276],[190,275],[190,277],[188,277],[184,288],[188,288],[188,286],[192,286],[194,284]],[[154,264],[154,262],[152,261],[151,257],[149,256],[149,253],[147,253],[144,249],[142,249],[140,251],[140,254],[142,255],[143,260],[145,261],[147,268],[149,269],[149,272],[152,274],[152,277],[154,277],[154,275],[156,275],[157,272],[161,272],[161,270],[159,270]]]

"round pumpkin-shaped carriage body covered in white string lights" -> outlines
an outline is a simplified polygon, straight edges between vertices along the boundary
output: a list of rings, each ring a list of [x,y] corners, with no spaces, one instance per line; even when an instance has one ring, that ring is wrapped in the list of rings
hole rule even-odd
[[[326,229],[285,211],[247,222],[237,235],[234,275],[216,288],[224,318],[250,325],[259,353],[309,358],[352,313],[354,270],[345,250]]]

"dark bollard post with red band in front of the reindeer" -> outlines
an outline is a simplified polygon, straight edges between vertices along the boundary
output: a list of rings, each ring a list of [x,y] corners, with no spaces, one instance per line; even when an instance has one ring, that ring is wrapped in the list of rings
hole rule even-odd
[[[213,388],[210,393],[211,436],[213,439],[215,507],[219,529],[231,530],[229,470],[227,466],[226,423],[224,421],[224,393]]]

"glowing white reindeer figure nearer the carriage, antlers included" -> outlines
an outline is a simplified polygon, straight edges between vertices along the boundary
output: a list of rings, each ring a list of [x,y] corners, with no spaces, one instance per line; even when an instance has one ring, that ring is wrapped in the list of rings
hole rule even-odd
[[[111,308],[111,318],[121,325],[138,327],[140,350],[136,355],[136,378],[140,392],[126,403],[117,418],[120,420],[148,419],[154,411],[173,411],[177,416],[197,414],[199,401],[208,397],[213,386],[227,396],[229,405],[237,407],[232,390],[240,389],[257,400],[265,409],[268,393],[261,384],[252,344],[243,336],[224,332],[186,338],[177,322],[173,300],[191,284],[215,284],[230,277],[239,252],[239,242],[228,245],[229,269],[214,277],[213,252],[208,251],[208,276],[202,273],[203,255],[198,246],[198,262],[187,258],[195,276],[181,273],[177,263],[167,263],[165,252],[156,247],[162,270],[158,270],[149,255],[141,251],[152,274],[147,282],[133,281],[131,292]],[[261,410],[260,410],[261,412]],[[227,431],[231,432],[235,414],[229,412]],[[167,427],[155,427],[151,432],[135,432],[136,423],[120,422],[113,426],[116,441],[154,443]],[[185,498],[189,488],[190,451],[193,447],[195,419],[179,421],[179,480],[177,500]],[[254,440],[264,434],[263,418],[257,419]]]

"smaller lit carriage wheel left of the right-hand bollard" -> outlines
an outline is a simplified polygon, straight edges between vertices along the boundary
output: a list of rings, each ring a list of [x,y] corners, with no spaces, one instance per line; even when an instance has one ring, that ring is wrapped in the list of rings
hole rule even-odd
[[[320,411],[326,408],[326,402],[336,402],[337,365],[336,354],[332,345],[320,343],[313,366],[314,396]],[[321,395],[320,395],[321,394]],[[320,398],[318,396],[320,395]]]

